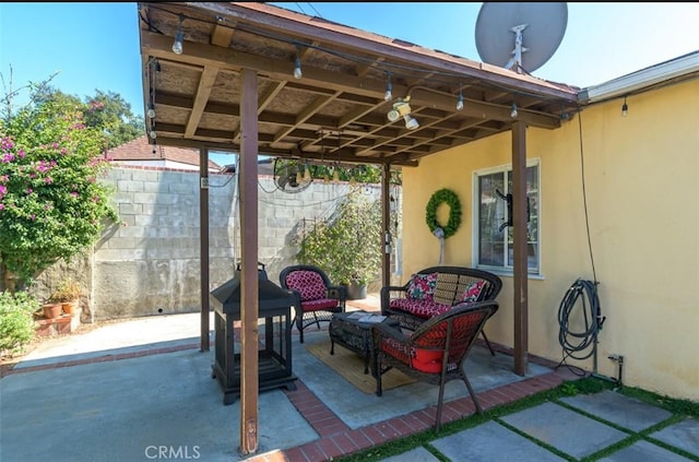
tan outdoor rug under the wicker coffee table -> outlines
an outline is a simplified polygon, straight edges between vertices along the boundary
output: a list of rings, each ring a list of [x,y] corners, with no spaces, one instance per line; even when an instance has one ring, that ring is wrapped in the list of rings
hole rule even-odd
[[[306,344],[306,350],[357,389],[367,394],[376,393],[376,380],[371,377],[371,374],[364,374],[364,358],[357,353],[335,345],[335,354],[331,355],[330,340]],[[415,382],[415,379],[395,369],[391,369],[381,376],[383,391],[413,382]]]

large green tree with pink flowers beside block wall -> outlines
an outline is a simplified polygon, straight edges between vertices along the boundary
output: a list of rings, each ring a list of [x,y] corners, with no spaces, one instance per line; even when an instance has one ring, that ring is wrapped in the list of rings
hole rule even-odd
[[[38,91],[38,86],[34,87]],[[105,134],[85,114],[100,104],[44,98],[0,120],[0,265],[28,282],[59,259],[70,259],[118,221],[110,189]],[[7,286],[7,285],[5,285]]]

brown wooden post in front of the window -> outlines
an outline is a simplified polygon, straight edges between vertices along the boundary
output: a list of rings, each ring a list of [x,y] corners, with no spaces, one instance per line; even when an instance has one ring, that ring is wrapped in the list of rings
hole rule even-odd
[[[514,374],[526,375],[529,356],[529,264],[526,256],[526,125],[512,123],[512,250],[514,254]]]

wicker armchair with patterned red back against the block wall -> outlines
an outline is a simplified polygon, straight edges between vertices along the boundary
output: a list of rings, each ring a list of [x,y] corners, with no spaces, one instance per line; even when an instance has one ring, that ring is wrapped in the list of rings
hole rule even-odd
[[[304,343],[304,329],[312,324],[320,329],[321,322],[330,322],[333,313],[345,310],[346,288],[332,285],[318,266],[287,266],[280,273],[280,285],[296,296],[292,323],[296,323],[300,343]]]

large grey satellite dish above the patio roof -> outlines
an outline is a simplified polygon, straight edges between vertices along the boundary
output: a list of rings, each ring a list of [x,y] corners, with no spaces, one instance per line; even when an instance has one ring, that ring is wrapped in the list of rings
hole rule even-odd
[[[556,52],[567,24],[565,2],[486,2],[476,20],[476,49],[483,62],[531,73]]]

